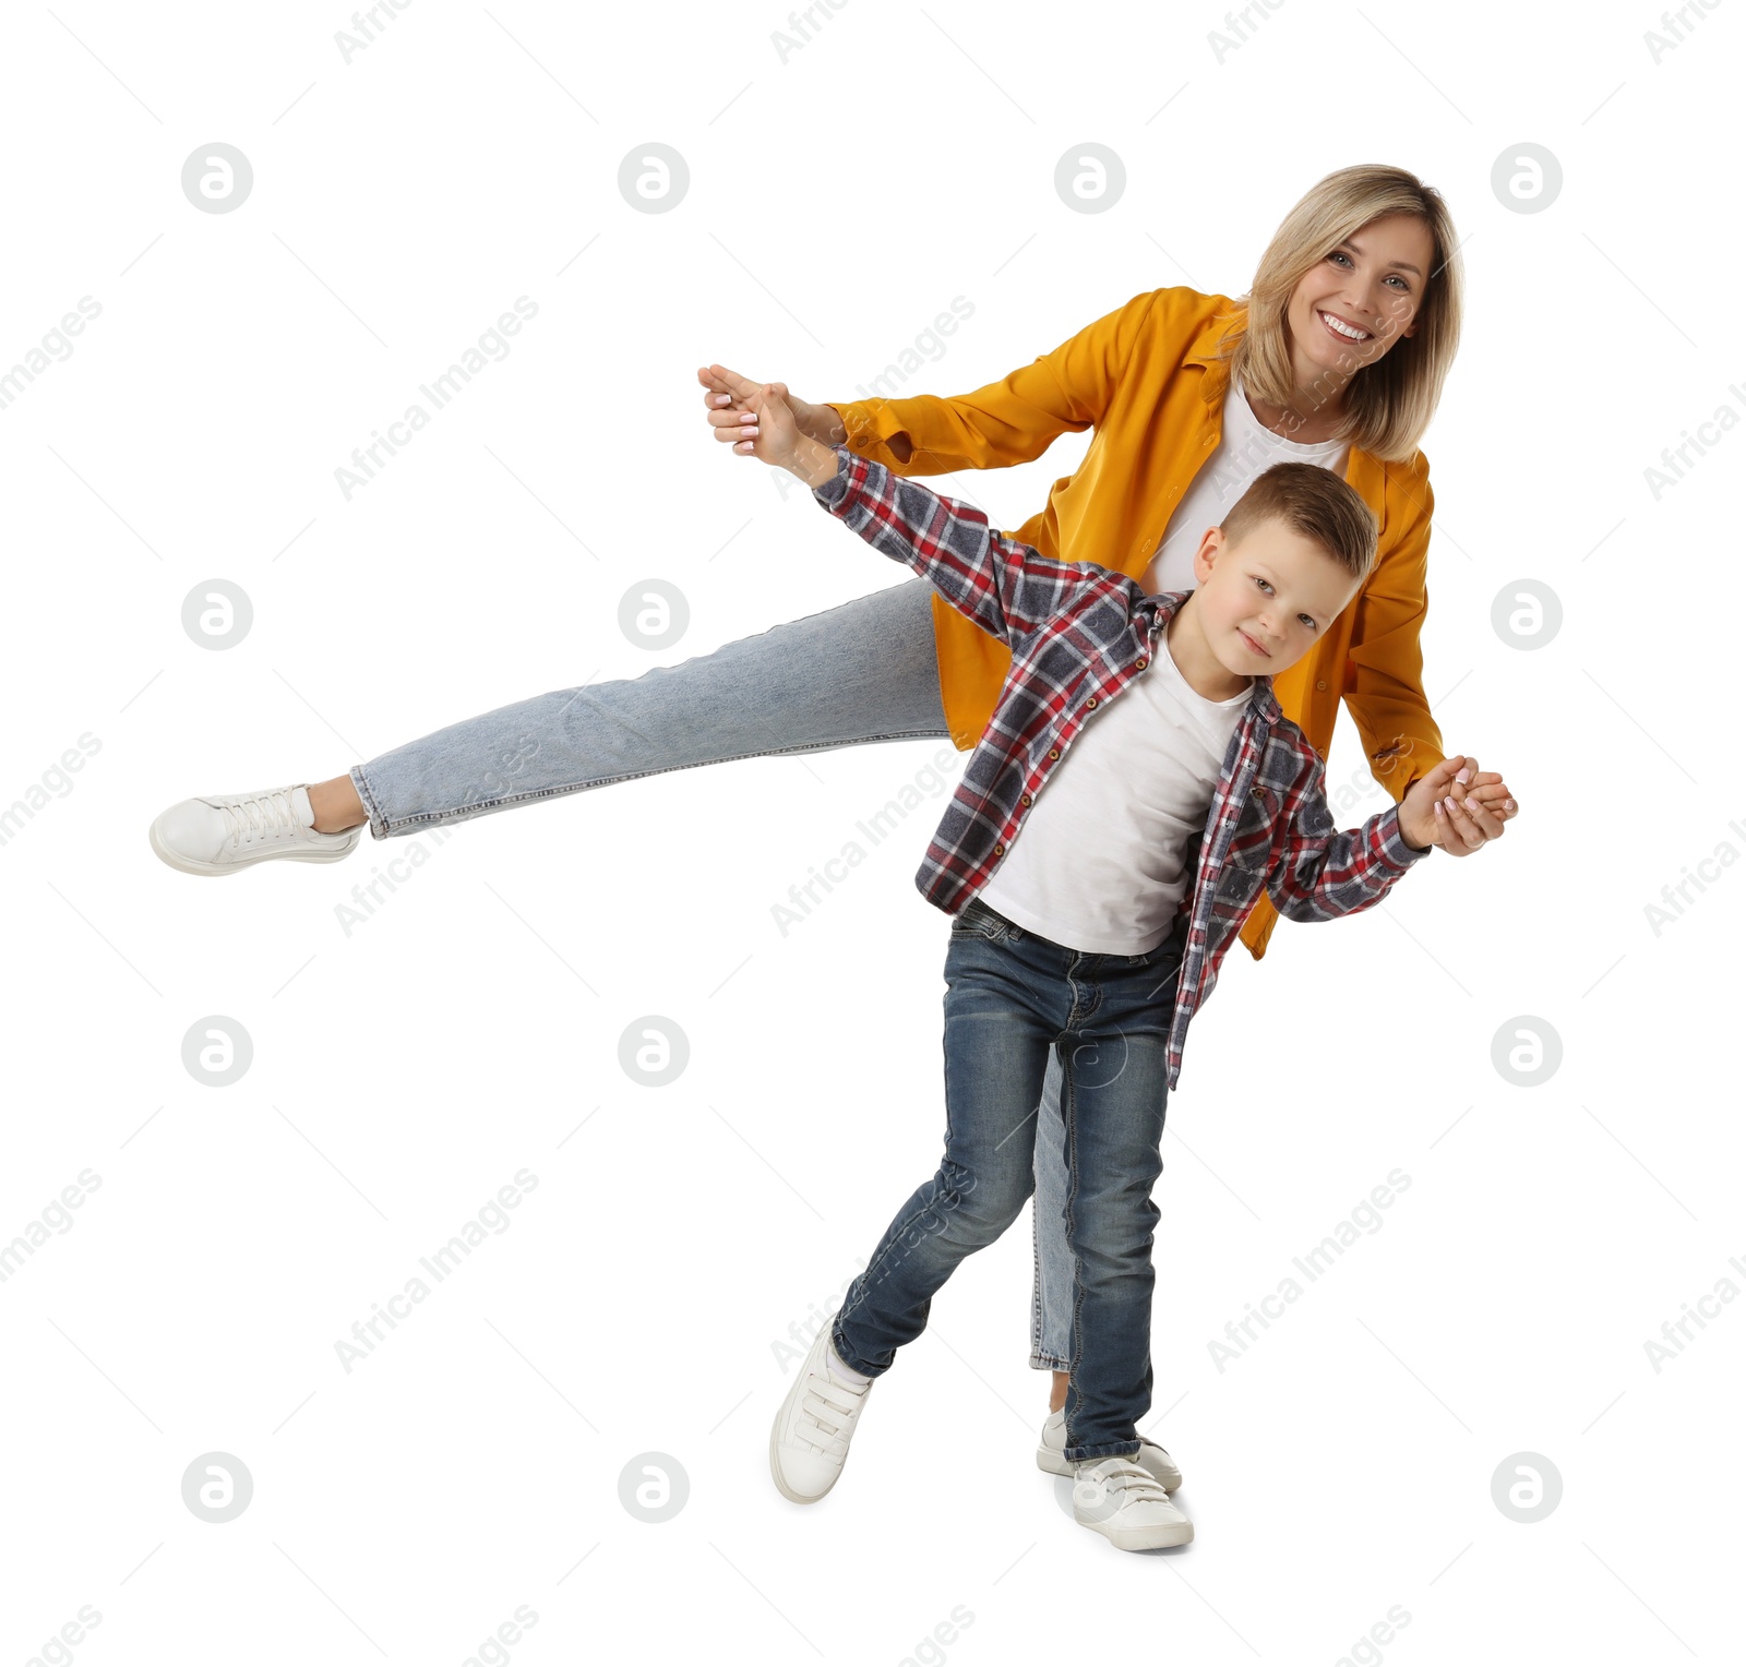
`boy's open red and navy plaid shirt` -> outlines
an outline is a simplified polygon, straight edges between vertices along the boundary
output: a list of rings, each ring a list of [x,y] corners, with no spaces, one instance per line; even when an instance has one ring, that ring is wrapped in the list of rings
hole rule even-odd
[[[836,475],[812,496],[1013,651],[993,717],[915,875],[929,902],[957,915],[999,868],[1074,737],[1170,651],[1165,628],[1191,592],[1147,595],[1096,562],[1053,560],[990,531],[971,504],[843,445]],[[1194,887],[1177,915],[1187,915],[1187,944],[1168,1086],[1182,1070],[1189,1019],[1262,887],[1292,920],[1334,920],[1379,902],[1426,855],[1406,843],[1397,805],[1350,833],[1334,827],[1320,754],[1280,709],[1273,679],[1257,676],[1184,864]]]

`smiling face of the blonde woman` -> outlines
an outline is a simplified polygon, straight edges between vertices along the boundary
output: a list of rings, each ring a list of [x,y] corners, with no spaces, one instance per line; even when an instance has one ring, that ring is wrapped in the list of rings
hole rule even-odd
[[[1416,215],[1383,215],[1329,250],[1297,279],[1285,312],[1297,381],[1350,377],[1411,335],[1433,258]]]

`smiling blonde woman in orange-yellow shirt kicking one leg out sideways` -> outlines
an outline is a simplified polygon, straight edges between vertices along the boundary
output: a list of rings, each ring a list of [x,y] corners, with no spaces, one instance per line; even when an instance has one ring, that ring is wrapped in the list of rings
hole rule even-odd
[[[1458,243],[1442,197],[1414,175],[1346,168],[1292,208],[1238,300],[1137,295],[957,400],[789,403],[814,438],[847,442],[897,475],[1027,463],[1058,435],[1093,429],[1081,466],[1011,536],[1060,560],[1119,567],[1147,592],[1193,588],[1201,532],[1269,463],[1339,470],[1378,517],[1378,560],[1275,695],[1323,758],[1344,700],[1372,773],[1399,801],[1444,756],[1419,688],[1432,492],[1418,440],[1460,337]],[[698,379],[716,438],[749,452],[760,384],[719,365]],[[344,857],[365,822],[381,840],[695,765],[936,735],[967,751],[1007,665],[1002,642],[908,580],[643,677],[485,712],[327,782],[185,799],[154,822],[152,845],[187,873],[225,875],[279,855]],[[1467,855],[1517,806],[1488,772],[1447,808],[1440,843]],[[1257,960],[1275,918],[1262,897],[1243,927]],[[1072,1321],[1060,1086],[1056,1060],[1039,1108],[1034,1217],[1030,1360],[1055,1372],[1046,1468],[1056,1468]],[[1168,1466],[1161,1449],[1152,1456]]]

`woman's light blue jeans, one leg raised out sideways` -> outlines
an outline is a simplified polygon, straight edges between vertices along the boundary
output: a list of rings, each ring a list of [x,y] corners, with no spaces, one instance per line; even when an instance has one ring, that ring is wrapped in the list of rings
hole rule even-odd
[[[641,677],[553,689],[407,742],[351,770],[388,840],[639,775],[737,758],[950,737],[932,587],[904,580]],[[1037,1107],[1030,1363],[1070,1369],[1062,1067]]]

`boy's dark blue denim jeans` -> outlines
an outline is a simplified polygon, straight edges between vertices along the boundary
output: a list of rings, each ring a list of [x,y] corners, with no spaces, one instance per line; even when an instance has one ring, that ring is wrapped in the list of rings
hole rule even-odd
[[[1152,1229],[1180,918],[1145,955],[1070,950],[980,899],[946,950],[946,1150],[892,1217],[831,1321],[876,1377],[922,1334],[934,1292],[1016,1220],[1034,1187],[1037,1105],[1063,1077],[1063,1229],[1072,1253],[1069,1459],[1131,1456],[1152,1405]]]

